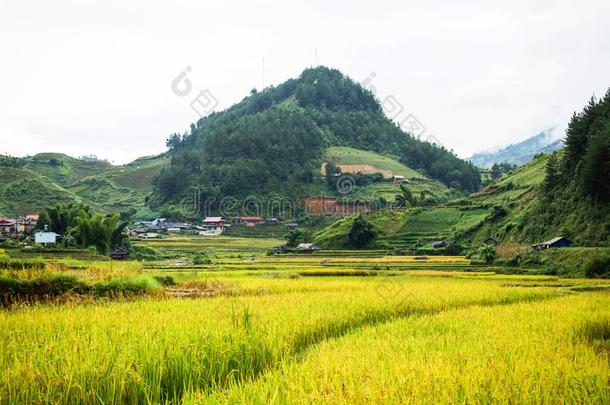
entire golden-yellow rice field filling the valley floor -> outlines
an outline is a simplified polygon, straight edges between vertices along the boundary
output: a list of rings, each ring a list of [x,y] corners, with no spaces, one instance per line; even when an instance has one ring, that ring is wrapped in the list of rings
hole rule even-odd
[[[610,402],[608,280],[472,272],[462,257],[321,264],[234,239],[156,242],[206,250],[207,267],[21,270],[172,284],[0,310],[0,403]]]

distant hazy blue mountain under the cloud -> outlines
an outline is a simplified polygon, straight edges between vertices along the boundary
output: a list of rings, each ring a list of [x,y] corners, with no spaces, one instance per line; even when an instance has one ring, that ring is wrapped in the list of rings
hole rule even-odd
[[[523,142],[509,145],[497,152],[474,154],[467,160],[483,168],[490,168],[494,163],[510,163],[518,166],[526,164],[538,153],[554,152],[561,148],[562,141],[556,139],[552,131],[552,129],[548,129]]]

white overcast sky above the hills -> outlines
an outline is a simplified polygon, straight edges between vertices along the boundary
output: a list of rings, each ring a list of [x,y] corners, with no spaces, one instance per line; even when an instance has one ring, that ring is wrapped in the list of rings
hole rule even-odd
[[[607,0],[0,4],[0,153],[16,156],[163,152],[199,118],[200,91],[227,108],[262,87],[263,57],[265,85],[279,84],[316,50],[463,157],[561,134],[610,87]],[[172,81],[187,67],[179,96]]]

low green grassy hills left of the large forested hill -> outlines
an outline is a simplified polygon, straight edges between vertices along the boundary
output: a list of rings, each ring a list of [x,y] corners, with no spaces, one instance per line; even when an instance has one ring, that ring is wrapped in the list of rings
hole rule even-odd
[[[18,216],[59,203],[83,203],[105,212],[149,216],[145,199],[153,178],[168,163],[164,155],[121,166],[60,153],[0,156],[0,214]]]

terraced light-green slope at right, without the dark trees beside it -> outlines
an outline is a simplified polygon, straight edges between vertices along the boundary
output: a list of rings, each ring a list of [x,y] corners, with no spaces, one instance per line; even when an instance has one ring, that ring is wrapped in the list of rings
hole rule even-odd
[[[539,155],[491,186],[467,197],[434,207],[412,207],[367,215],[378,230],[376,247],[409,249],[434,240],[482,243],[488,237],[508,242],[528,241],[526,226],[538,204],[549,155]],[[316,235],[325,247],[344,246],[352,218],[344,218]],[[552,234],[536,234],[531,241]],[[550,237],[549,237],[550,238]]]

